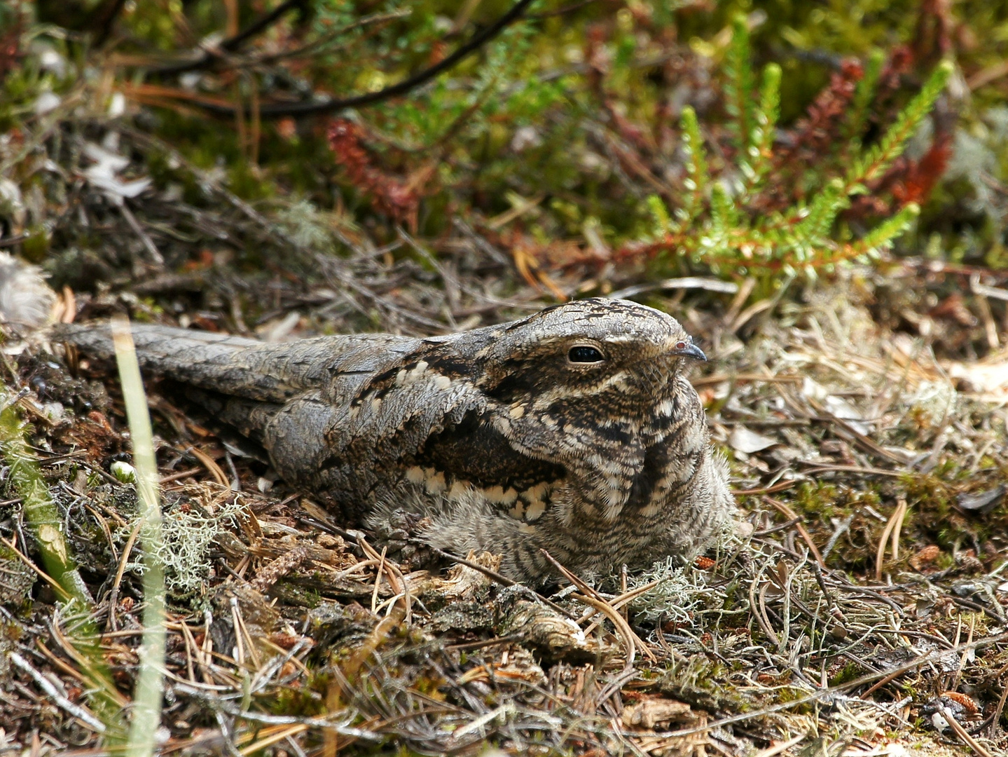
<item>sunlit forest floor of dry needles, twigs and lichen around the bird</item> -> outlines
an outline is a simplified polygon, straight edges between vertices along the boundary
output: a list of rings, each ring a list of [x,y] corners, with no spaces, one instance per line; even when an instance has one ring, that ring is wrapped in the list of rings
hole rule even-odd
[[[433,269],[358,250],[329,264],[359,288],[304,296],[276,276],[255,324],[226,292],[264,284],[227,260],[188,278],[137,262],[103,294],[65,289],[57,310],[279,340],[359,329],[361,303],[372,328],[432,333],[547,301],[471,229]],[[745,284],[644,292],[710,356],[691,379],[742,525],[689,567],[579,586],[595,606],[506,586],[491,554],[398,564],[148,386],[169,592],[160,753],[1003,754],[1008,362],[941,359],[884,326],[953,340],[954,302],[950,319],[909,292],[968,275],[902,261],[748,307]],[[39,575],[5,476],[0,753],[112,754],[92,710],[129,702],[143,608],[134,486],[109,473],[130,450],[118,381],[38,335],[8,335],[4,363],[94,604]]]

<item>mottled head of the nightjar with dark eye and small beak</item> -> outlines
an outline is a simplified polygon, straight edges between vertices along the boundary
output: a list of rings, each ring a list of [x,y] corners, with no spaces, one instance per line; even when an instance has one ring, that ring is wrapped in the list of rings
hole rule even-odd
[[[684,359],[706,357],[660,310],[586,299],[482,338],[476,385],[497,405],[497,430],[520,452],[562,466],[578,490],[573,501],[609,519],[632,496],[649,450],[685,427],[680,421],[706,429],[696,391],[678,377]]]

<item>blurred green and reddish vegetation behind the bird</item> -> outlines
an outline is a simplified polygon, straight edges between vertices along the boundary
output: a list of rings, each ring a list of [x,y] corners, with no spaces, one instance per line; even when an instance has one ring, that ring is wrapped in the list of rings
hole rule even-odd
[[[969,327],[953,351],[1000,345],[1003,299],[969,294],[1003,283],[1006,3],[44,0],[2,12],[0,245],[57,286],[97,293],[225,263],[302,291],[377,276],[394,299],[403,260],[399,283],[444,274],[439,261],[475,245],[495,253],[493,281],[480,263],[454,270],[500,296],[713,275],[742,286],[742,305],[853,264],[869,279],[919,277],[910,295],[930,287],[924,304]],[[229,204],[245,220],[222,230],[215,208]],[[334,278],[320,256],[381,270]],[[236,286],[243,319],[273,314],[254,285]],[[879,317],[899,326],[899,309]]]

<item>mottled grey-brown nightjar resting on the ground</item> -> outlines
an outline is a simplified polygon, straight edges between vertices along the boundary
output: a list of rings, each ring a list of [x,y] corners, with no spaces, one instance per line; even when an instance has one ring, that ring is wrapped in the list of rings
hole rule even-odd
[[[688,559],[734,510],[681,371],[704,353],[636,302],[586,299],[428,339],[133,336],[144,369],[190,385],[289,483],[356,522],[429,518],[422,539],[503,554],[516,580],[552,576],[542,549],[585,576]],[[60,338],[112,354],[105,330]]]

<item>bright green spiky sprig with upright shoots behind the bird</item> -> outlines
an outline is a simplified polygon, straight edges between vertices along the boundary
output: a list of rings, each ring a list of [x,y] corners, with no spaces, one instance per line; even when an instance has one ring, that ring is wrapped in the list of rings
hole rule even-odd
[[[902,154],[944,89],[952,65],[938,65],[881,139],[862,148],[861,133],[880,66],[878,56],[870,58],[864,73],[859,73],[860,86],[853,92],[853,103],[844,112],[849,169],[832,177],[824,172],[820,185],[807,197],[782,210],[764,211],[773,205],[766,196],[778,191],[780,184],[780,178],[771,172],[782,162],[776,159],[773,144],[781,70],[776,64],[766,66],[757,95],[750,52],[746,22],[739,18],[725,61],[725,110],[730,117],[727,125],[734,163],[726,162],[720,175],[714,174],[697,113],[689,106],[683,108],[686,195],[673,213],[657,196],[648,199],[656,240],[647,253],[665,265],[670,265],[674,256],[719,274],[793,276],[800,271],[809,278],[820,271],[833,271],[838,264],[877,258],[913,222],[919,213],[917,203],[903,203],[857,239],[841,215],[856,198],[872,193]]]

